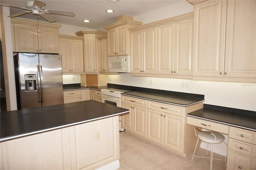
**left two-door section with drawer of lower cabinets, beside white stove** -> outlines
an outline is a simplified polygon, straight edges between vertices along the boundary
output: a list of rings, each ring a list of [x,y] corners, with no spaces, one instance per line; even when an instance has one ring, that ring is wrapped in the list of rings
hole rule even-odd
[[[146,138],[146,100],[121,96],[121,107],[129,109],[129,114],[122,116],[122,128]]]

